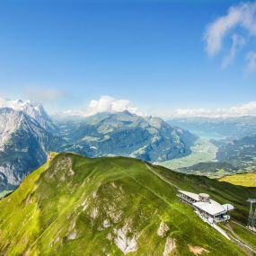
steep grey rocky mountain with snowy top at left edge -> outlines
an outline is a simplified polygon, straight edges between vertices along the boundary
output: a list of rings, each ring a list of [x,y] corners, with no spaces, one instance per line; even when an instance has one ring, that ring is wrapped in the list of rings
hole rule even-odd
[[[18,185],[46,160],[59,143],[55,130],[40,104],[0,100],[0,190]]]

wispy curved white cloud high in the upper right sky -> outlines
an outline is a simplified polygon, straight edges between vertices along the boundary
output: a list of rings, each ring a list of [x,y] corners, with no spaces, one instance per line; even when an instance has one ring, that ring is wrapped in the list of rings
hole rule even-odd
[[[243,32],[247,40],[256,37],[256,2],[231,6],[226,15],[217,18],[207,26],[204,40],[209,57],[216,56],[223,49],[225,37],[235,29],[239,29],[240,33]],[[223,66],[228,66],[237,51],[245,44],[242,35],[238,33],[233,34],[231,40],[232,44],[223,61]]]

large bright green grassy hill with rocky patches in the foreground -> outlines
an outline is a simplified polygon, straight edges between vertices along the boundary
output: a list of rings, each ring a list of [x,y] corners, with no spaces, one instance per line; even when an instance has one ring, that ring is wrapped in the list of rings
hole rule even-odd
[[[208,179],[193,179],[163,167],[154,170],[184,189],[212,190],[223,201],[220,191],[229,199],[236,188],[215,181],[219,187],[213,190],[207,187]],[[239,196],[234,201],[239,204],[252,190],[235,192]],[[243,207],[235,215],[242,220]],[[104,227],[104,221],[110,226]],[[162,221],[169,231],[160,237],[157,229]],[[173,255],[192,255],[188,244],[207,249],[207,255],[243,255],[234,243],[204,224],[191,207],[181,204],[176,190],[145,163],[75,154],[58,154],[0,201],[0,254],[122,255],[115,239],[124,227],[126,237],[137,240],[135,255],[163,255],[167,237],[176,241]]]

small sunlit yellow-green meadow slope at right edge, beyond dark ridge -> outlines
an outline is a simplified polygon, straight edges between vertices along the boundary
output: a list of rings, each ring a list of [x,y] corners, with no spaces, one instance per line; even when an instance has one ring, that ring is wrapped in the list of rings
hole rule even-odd
[[[256,172],[229,175],[221,178],[220,181],[226,181],[234,185],[245,187],[256,187]]]

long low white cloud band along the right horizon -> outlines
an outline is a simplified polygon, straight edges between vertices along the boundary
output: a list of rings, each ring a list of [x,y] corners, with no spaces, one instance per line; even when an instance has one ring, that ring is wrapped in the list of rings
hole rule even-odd
[[[256,102],[249,102],[241,106],[227,109],[178,109],[174,112],[175,117],[208,117],[208,118],[230,118],[241,116],[256,116]]]

